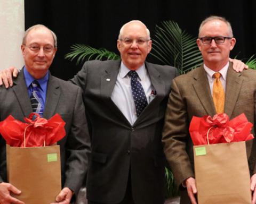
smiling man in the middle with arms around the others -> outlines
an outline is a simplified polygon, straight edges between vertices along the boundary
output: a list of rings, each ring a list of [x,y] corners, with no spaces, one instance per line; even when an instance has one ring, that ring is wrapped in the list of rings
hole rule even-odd
[[[149,30],[140,21],[120,30],[122,61],[89,61],[72,79],[84,91],[91,125],[87,174],[89,203],[163,203],[165,158],[161,143],[174,67],[145,62]],[[135,107],[130,71],[138,74],[148,105]]]

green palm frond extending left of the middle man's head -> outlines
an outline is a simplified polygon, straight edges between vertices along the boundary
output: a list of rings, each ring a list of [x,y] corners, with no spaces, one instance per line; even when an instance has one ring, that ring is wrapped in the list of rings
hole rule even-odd
[[[70,49],[71,52],[65,55],[65,59],[73,61],[77,57],[76,64],[85,60],[118,60],[120,58],[119,55],[105,48],[96,49],[88,45],[74,44]]]

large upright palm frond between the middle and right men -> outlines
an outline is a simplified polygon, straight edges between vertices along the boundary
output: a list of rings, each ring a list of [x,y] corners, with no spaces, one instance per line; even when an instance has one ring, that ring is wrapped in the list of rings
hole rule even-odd
[[[196,38],[182,31],[174,21],[156,25],[151,55],[163,64],[177,67],[181,74],[203,62]]]

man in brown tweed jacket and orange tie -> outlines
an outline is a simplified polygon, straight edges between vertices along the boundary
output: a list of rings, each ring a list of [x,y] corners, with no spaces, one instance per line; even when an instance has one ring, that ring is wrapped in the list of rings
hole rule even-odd
[[[201,23],[198,36],[197,44],[204,64],[173,80],[163,129],[165,155],[182,189],[180,203],[196,203],[193,143],[188,132],[191,118],[224,112],[231,119],[244,113],[255,124],[256,73],[250,69],[237,73],[232,69],[233,64],[228,62],[230,50],[236,43],[230,23],[219,16],[210,16]],[[216,72],[220,73],[221,90],[225,94],[225,106],[222,108],[214,99],[217,96],[213,91]],[[221,101],[220,98],[218,100]],[[253,134],[254,131],[253,128]],[[252,191],[256,175],[255,145],[254,139],[246,142]]]

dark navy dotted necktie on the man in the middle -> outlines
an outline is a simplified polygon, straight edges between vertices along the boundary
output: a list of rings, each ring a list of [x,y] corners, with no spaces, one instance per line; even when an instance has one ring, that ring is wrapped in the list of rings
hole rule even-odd
[[[148,105],[148,101],[143,90],[143,87],[138,80],[138,74],[135,71],[130,71],[128,73],[129,77],[131,77],[131,87],[132,87],[132,96],[136,108],[137,116],[143,111],[143,109]]]

